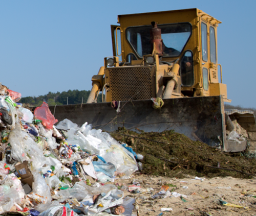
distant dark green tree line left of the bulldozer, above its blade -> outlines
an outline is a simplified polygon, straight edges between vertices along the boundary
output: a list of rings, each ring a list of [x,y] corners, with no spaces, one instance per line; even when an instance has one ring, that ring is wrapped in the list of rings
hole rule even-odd
[[[68,90],[53,93],[49,92],[45,95],[40,95],[38,97],[24,97],[20,99],[20,103],[29,104],[29,106],[41,106],[42,102],[46,102],[49,106],[54,105],[66,105],[68,104],[85,104],[89,97],[90,91],[86,90]],[[98,96],[97,102],[102,102],[102,94]]]

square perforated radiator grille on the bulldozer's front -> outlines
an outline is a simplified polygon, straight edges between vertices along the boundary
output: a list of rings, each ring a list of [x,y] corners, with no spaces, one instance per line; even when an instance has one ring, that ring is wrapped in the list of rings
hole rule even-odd
[[[110,69],[112,101],[152,98],[153,67],[116,67]]]

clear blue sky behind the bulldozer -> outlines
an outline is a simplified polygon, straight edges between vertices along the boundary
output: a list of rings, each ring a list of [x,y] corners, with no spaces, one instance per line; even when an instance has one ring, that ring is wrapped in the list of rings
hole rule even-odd
[[[23,97],[90,90],[112,56],[117,15],[199,8],[222,21],[218,63],[231,105],[256,108],[256,1],[0,1],[2,84]]]

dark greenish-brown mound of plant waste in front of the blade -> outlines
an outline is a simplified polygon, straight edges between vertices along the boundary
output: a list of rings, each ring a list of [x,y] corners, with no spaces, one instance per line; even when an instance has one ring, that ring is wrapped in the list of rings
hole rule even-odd
[[[143,170],[140,172],[145,175],[176,178],[186,178],[187,175],[208,178],[251,178],[250,175],[230,169],[256,174],[255,159],[241,156],[240,153],[221,152],[220,149],[193,141],[174,130],[159,133],[119,128],[112,132],[111,136],[127,143],[134,152],[144,156],[141,161]],[[229,170],[221,170],[218,167]]]

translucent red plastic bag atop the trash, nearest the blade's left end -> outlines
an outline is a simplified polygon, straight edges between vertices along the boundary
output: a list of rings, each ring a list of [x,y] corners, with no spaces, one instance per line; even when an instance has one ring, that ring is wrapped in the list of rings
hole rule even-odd
[[[52,129],[52,126],[58,122],[57,119],[51,113],[49,106],[47,103],[43,102],[41,106],[36,107],[34,111],[34,116],[42,121],[42,125],[44,125],[47,129]]]

